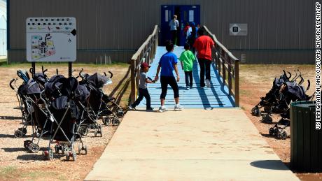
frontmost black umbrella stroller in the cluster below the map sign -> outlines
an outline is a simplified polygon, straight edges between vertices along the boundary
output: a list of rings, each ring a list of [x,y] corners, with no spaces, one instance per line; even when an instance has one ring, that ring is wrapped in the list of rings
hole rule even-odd
[[[48,150],[43,152],[48,159],[53,158],[53,150],[50,148],[52,143],[55,145],[55,153],[59,150],[66,155],[69,160],[72,157],[76,160],[76,151],[73,149],[76,140],[79,140],[78,152],[85,150],[87,154],[87,147],[83,145],[76,129],[76,120],[78,119],[78,107],[76,106],[78,99],[76,99],[75,92],[78,89],[78,81],[76,78],[64,78],[62,75],[55,75],[50,78],[49,82],[45,84],[45,90],[41,92],[41,100],[44,102],[44,108],[48,113],[48,120],[50,120],[50,140]],[[46,103],[45,95],[50,97],[50,104]]]

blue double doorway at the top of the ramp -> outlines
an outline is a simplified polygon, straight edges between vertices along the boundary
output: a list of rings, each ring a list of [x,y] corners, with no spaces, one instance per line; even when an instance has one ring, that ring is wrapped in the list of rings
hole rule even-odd
[[[200,6],[199,5],[162,5],[161,6],[161,26],[160,26],[160,45],[165,45],[165,41],[172,39],[169,22],[172,17],[177,15],[179,29],[177,31],[176,45],[183,46],[186,43],[186,36],[183,29],[188,22],[200,24]]]

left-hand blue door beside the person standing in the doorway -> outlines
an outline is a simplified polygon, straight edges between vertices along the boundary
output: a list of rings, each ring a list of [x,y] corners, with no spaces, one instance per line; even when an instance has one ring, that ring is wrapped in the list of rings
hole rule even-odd
[[[159,45],[165,45],[165,41],[171,39],[169,22],[174,15],[173,5],[161,6],[161,26],[160,26],[160,42]]]

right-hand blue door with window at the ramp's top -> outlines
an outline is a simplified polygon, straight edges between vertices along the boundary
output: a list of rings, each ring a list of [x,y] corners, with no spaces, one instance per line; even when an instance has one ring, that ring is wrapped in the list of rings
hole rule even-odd
[[[186,43],[186,35],[184,34],[184,27],[186,23],[189,23],[191,26],[192,22],[195,22],[195,25],[200,24],[200,6],[193,5],[193,6],[180,6],[180,27],[181,32],[179,34],[179,42],[180,45],[183,46]]]

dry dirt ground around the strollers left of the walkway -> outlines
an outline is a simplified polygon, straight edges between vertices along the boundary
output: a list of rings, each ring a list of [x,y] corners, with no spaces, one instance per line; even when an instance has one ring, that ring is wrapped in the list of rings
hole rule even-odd
[[[8,86],[8,82],[17,78],[15,74],[18,70],[28,69],[29,64],[2,66],[0,67],[0,180],[83,180],[89,173],[95,161],[101,156],[107,143],[116,131],[116,126],[102,126],[103,137],[94,137],[93,131],[88,133],[83,142],[88,147],[88,153],[78,154],[76,161],[65,161],[63,154],[55,154],[54,160],[45,161],[43,159],[42,150],[48,147],[48,140],[41,140],[41,151],[37,154],[26,152],[23,147],[24,140],[30,139],[31,129],[27,131],[26,138],[13,138],[13,133],[21,124],[21,113],[18,109],[18,101],[15,92]],[[59,73],[67,75],[66,64],[46,65],[48,75],[54,75],[56,68]],[[113,72],[113,84],[106,86],[104,91],[107,94],[115,96],[120,101],[120,106],[127,105],[130,97],[130,74],[127,64],[117,64],[109,66],[94,66],[87,64],[76,64],[73,68],[78,71],[84,68],[85,73],[92,74],[103,71]],[[36,67],[36,71],[40,71],[41,67]],[[73,75],[77,75],[75,72]],[[22,81],[18,81],[17,85],[21,85]],[[102,120],[99,120],[102,124]],[[76,145],[78,150],[78,145]],[[76,151],[77,152],[77,151]]]

